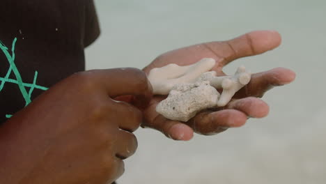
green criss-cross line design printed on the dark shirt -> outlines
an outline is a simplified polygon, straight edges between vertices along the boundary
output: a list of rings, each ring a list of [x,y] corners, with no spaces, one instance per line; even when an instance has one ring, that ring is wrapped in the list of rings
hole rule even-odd
[[[20,71],[18,70],[17,66],[15,65],[15,45],[17,42],[17,38],[15,38],[13,40],[13,45],[11,47],[11,52],[12,54],[10,54],[8,52],[8,47],[6,47],[1,41],[0,41],[0,49],[2,50],[3,54],[5,54],[8,63],[9,63],[9,68],[8,68],[8,72],[6,74],[5,77],[0,77],[0,92],[3,89],[4,84],[6,84],[6,82],[8,83],[13,83],[13,84],[17,84],[17,86],[20,89],[20,92],[22,93],[22,96],[25,100],[25,107],[27,105],[29,105],[29,103],[31,102],[31,94],[33,93],[34,89],[40,89],[43,91],[46,91],[48,88],[44,87],[44,86],[39,86],[36,84],[36,79],[38,78],[38,71],[35,71],[35,75],[34,75],[34,79],[33,79],[33,84],[29,84],[29,83],[25,83],[22,81],[22,76],[20,75]],[[0,66],[1,67],[1,66]],[[10,73],[13,72],[16,79],[10,79]],[[29,87],[29,92],[27,92],[26,87]],[[6,117],[10,118],[11,115],[7,114]]]

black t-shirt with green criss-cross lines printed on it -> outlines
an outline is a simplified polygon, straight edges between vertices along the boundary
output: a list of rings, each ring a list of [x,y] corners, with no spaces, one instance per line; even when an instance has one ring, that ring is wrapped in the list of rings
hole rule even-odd
[[[99,33],[93,0],[1,0],[0,124],[84,70],[84,47]]]

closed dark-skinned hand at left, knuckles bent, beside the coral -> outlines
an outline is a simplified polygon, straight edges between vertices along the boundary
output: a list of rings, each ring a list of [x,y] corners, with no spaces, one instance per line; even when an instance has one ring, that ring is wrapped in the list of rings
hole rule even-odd
[[[0,183],[107,183],[137,148],[141,112],[152,89],[132,68],[79,72],[45,91],[0,128]]]

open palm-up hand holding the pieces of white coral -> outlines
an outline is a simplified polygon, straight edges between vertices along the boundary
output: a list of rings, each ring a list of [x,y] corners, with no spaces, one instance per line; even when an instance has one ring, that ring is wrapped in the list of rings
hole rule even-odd
[[[176,63],[187,66],[203,58],[217,61],[212,70],[217,75],[225,75],[223,67],[235,59],[254,56],[274,49],[281,44],[281,36],[276,31],[254,31],[233,40],[203,43],[182,49],[176,49],[158,56],[143,70],[148,74],[152,68]],[[143,127],[160,130],[167,137],[176,140],[189,140],[193,132],[202,135],[215,135],[228,128],[244,125],[247,117],[262,118],[267,116],[269,107],[260,98],[274,86],[288,84],[295,79],[295,72],[286,68],[274,68],[253,74],[251,82],[235,94],[231,102],[216,111],[205,111],[197,114],[186,123],[171,121],[155,111],[157,104],[166,96],[156,96],[150,106],[143,111]]]

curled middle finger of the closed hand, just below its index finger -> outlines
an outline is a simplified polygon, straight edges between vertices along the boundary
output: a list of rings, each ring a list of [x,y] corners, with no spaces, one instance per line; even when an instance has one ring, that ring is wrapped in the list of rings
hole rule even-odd
[[[114,103],[113,111],[115,121],[118,121],[118,126],[127,132],[134,132],[139,128],[142,121],[142,114],[139,109],[126,103],[112,101]]]

